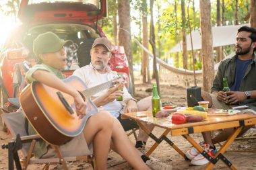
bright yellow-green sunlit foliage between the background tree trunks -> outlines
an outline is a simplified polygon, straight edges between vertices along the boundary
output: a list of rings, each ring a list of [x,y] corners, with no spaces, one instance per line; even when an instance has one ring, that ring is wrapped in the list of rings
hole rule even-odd
[[[117,15],[117,3],[119,0],[108,0],[108,17],[102,19],[99,22],[99,25],[102,26],[104,33],[110,40],[113,40],[113,18]],[[142,40],[142,26],[141,26],[141,18],[143,13],[148,13],[148,18],[150,16],[150,6],[145,7],[143,3],[148,2],[149,0],[129,0],[131,5],[131,37],[132,37],[132,48],[133,48],[133,62],[139,63],[141,62],[141,48],[137,46],[134,41],[134,38],[141,42]],[[190,3],[189,13],[190,18],[186,16],[186,19],[190,21],[192,30],[199,30],[200,28],[200,16],[199,16],[199,1],[191,0],[195,3],[195,9],[193,5]],[[174,13],[174,4],[177,3],[177,20],[175,18]],[[189,0],[185,0],[185,6],[187,11]],[[216,3],[217,0],[211,1],[212,7],[212,26],[216,26]],[[222,3],[222,1],[220,1]],[[157,4],[157,5],[156,5]],[[16,16],[18,13],[18,7],[20,5],[19,0],[1,0],[0,2],[0,10],[4,15],[12,15]],[[221,4],[222,5],[222,4]],[[249,10],[251,1],[250,0],[239,0],[238,1],[238,24],[244,24],[249,22]],[[234,0],[224,0],[224,25],[232,25],[234,23],[234,11],[235,11],[235,3]],[[156,42],[160,42],[161,47],[158,47],[156,44],[156,54],[159,54],[164,60],[174,61],[174,56],[176,54],[169,54],[168,51],[179,41],[181,41],[181,0],[155,0],[154,2],[154,25],[156,32]],[[159,13],[159,14],[158,14]],[[222,15],[222,7],[221,7],[221,15]],[[222,17],[222,16],[221,16]],[[149,20],[149,19],[148,19]],[[150,25],[150,22],[148,23]],[[176,32],[177,27],[177,32]],[[189,27],[187,24],[184,26],[186,32],[189,32]],[[160,29],[159,29],[160,28]],[[150,28],[148,28],[150,30]],[[178,35],[178,36],[177,36]],[[178,40],[177,40],[178,37]],[[177,42],[178,41],[178,42]],[[152,50],[152,49],[150,49]],[[160,52],[158,52],[160,50]],[[226,53],[232,51],[232,46],[226,46],[224,48]],[[198,63],[200,60],[196,58],[196,62]],[[215,56],[215,55],[214,55]],[[191,54],[189,54],[191,57]],[[215,56],[216,57],[216,56]],[[173,59],[172,59],[173,58]],[[182,60],[182,55],[179,53],[179,60]],[[188,59],[189,60],[189,59]],[[182,67],[182,62],[180,62],[179,67]],[[172,62],[170,62],[172,64]],[[174,64],[174,63],[173,63]],[[198,63],[200,66],[201,63]],[[188,65],[188,69],[191,69],[190,65]],[[197,67],[199,69],[199,67]]]

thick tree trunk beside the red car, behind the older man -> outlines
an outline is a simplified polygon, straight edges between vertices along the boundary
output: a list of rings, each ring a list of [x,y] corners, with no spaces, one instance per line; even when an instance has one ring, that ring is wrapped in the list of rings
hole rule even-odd
[[[118,1],[118,14],[119,14],[119,46],[124,46],[125,54],[129,62],[129,73],[131,75],[131,84],[134,88],[133,77],[133,54],[131,50],[131,15],[130,15],[130,2],[129,0]],[[132,94],[132,95],[133,95]]]

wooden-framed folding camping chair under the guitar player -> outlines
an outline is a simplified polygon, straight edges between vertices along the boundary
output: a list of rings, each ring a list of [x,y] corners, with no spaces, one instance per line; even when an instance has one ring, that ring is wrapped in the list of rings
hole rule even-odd
[[[40,139],[38,134],[28,136],[25,129],[25,117],[23,112],[13,112],[11,114],[1,114],[3,121],[9,128],[13,140],[8,144],[3,144],[2,148],[8,148],[8,164],[9,170],[13,170],[13,161],[16,169],[25,170],[28,165],[45,164],[43,169],[49,169],[51,164],[61,163],[63,169],[67,170],[65,161],[87,161],[94,168],[94,161],[91,155],[85,157],[62,157],[59,146],[55,146],[58,158],[36,159],[33,157],[34,145],[36,140]],[[18,151],[22,150],[24,156],[21,160],[18,156]]]

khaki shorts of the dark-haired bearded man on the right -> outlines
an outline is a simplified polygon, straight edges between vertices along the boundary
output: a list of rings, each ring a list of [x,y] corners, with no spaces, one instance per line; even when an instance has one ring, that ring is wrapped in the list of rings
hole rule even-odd
[[[232,108],[232,105],[227,105],[223,101],[218,101],[217,97],[213,94],[210,94],[212,97],[212,108],[213,109],[224,109],[224,110],[229,110]],[[241,110],[239,114],[256,114],[254,110],[251,109],[245,109]]]

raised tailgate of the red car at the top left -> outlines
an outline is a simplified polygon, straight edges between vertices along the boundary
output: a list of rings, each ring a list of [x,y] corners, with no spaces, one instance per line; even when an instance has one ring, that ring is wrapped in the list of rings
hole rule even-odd
[[[106,0],[22,0],[18,17],[32,22],[96,22],[107,16]]]

